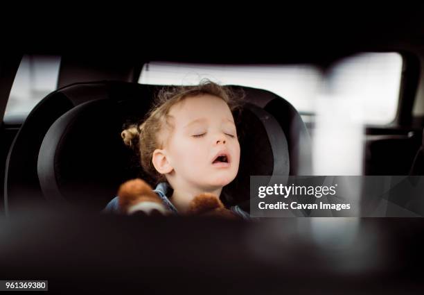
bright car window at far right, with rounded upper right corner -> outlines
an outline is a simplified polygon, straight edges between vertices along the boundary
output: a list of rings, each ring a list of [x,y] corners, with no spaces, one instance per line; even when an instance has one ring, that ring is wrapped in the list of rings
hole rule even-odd
[[[366,124],[388,124],[398,108],[403,58],[399,53],[362,53],[337,62],[326,94],[355,106]]]

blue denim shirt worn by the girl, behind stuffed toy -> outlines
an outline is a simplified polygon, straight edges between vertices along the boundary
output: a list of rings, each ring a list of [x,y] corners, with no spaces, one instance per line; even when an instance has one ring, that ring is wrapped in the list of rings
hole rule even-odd
[[[169,192],[169,189],[170,189],[170,185],[168,183],[159,183],[157,185],[157,187],[153,190],[153,192],[155,192],[159,196],[159,198],[161,198],[165,207],[168,210],[170,210],[170,212],[172,212],[172,214],[179,215],[177,208],[175,208],[173,203],[171,203],[171,201],[169,201],[168,197],[166,196],[166,194]],[[230,208],[230,210],[233,213],[237,214],[239,217],[242,217],[242,219],[245,219],[245,220],[251,219],[249,213],[245,212],[244,210],[242,210],[242,208],[240,208],[237,205],[232,206]],[[102,212],[105,212],[105,213],[118,213],[118,212],[120,212],[119,203],[118,203],[118,196],[115,196],[114,199],[109,201],[109,203],[107,203],[105,209],[103,209]]]

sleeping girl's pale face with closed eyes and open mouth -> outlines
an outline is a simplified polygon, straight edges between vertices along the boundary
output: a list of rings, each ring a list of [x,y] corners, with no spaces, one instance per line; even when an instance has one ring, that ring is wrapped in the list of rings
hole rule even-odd
[[[240,144],[225,101],[201,94],[170,109],[173,131],[166,145],[175,183],[216,189],[236,178]]]

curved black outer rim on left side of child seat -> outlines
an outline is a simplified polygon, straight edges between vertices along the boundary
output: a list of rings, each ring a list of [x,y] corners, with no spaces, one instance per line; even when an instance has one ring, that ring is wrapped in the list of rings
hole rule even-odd
[[[40,101],[22,124],[10,146],[6,160],[4,199],[6,212],[28,201],[43,200],[37,177],[39,146],[51,124],[82,101],[104,96],[104,83],[87,83],[83,93],[81,85],[69,85],[52,92]]]

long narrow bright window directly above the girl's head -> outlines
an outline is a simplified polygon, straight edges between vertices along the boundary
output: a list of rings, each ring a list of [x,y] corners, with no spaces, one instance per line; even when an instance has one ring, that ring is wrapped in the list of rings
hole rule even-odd
[[[301,113],[312,112],[311,97],[319,91],[321,73],[313,65],[193,65],[149,62],[139,83],[196,85],[202,78],[223,85],[242,85],[270,90],[284,97]]]

